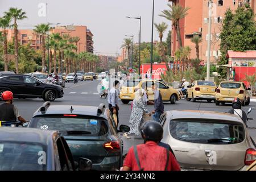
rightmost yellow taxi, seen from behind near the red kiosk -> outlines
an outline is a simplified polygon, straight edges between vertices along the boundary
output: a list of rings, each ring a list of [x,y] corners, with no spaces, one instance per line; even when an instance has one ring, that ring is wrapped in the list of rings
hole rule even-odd
[[[245,83],[237,81],[222,81],[216,90],[216,105],[233,102],[234,98],[240,98],[242,106],[250,104],[250,88]]]

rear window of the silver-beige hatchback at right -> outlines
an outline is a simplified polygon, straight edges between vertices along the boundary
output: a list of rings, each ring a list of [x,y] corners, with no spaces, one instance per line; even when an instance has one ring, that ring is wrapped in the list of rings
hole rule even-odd
[[[245,139],[242,124],[209,121],[170,122],[170,133],[175,139],[204,144],[236,144]]]

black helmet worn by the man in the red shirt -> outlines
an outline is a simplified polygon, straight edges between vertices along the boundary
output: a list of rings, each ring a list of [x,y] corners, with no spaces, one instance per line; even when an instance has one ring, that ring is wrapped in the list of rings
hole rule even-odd
[[[144,123],[141,128],[142,137],[144,135],[144,140],[152,140],[155,142],[160,142],[163,138],[163,127],[156,121],[148,121]]]

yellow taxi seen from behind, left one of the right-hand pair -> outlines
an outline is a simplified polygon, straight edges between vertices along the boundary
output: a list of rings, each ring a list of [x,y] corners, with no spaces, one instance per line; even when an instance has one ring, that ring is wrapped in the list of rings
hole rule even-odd
[[[212,102],[215,100],[217,86],[213,81],[194,81],[188,86],[187,101],[195,102],[196,100],[207,100]]]

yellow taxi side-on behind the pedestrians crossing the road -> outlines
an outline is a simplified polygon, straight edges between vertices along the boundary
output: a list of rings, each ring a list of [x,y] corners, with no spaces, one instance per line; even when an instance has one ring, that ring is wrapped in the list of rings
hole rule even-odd
[[[130,101],[134,100],[135,90],[141,88],[142,84],[145,83],[147,87],[147,96],[148,100],[154,101],[154,92],[151,88],[152,82],[157,83],[159,85],[160,93],[162,94],[163,101],[169,101],[171,104],[175,104],[176,101],[180,100],[179,92],[167,86],[164,81],[161,80],[127,80],[125,85],[122,86],[119,97],[123,104],[128,104]]]

